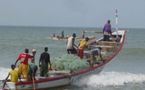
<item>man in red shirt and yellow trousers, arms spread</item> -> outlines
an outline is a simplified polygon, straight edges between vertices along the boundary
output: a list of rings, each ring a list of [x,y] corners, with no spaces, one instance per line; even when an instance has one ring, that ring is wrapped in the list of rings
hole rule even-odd
[[[33,56],[29,54],[29,49],[25,49],[24,53],[20,53],[15,65],[18,61],[20,64],[18,66],[18,73],[23,79],[28,80],[28,60],[32,60]]]

